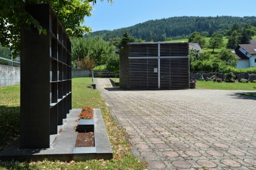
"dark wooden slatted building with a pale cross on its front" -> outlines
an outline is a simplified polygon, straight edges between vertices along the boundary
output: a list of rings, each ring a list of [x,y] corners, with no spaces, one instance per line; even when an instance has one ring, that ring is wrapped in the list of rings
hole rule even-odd
[[[130,43],[120,52],[120,87],[188,89],[188,48],[188,43]]]

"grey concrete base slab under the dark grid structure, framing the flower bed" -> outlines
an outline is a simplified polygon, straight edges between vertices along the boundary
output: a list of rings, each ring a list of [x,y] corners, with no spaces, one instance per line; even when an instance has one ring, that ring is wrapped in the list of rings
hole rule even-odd
[[[95,147],[74,148],[77,132],[75,127],[76,120],[80,114],[80,109],[70,110],[70,114],[63,125],[62,132],[57,135],[51,148],[20,150],[19,139],[14,141],[11,146],[0,152],[0,160],[18,160],[18,161],[42,161],[60,160],[60,161],[85,161],[88,159],[112,159],[113,150],[109,142],[107,130],[101,116],[100,109],[94,109],[94,133]]]

